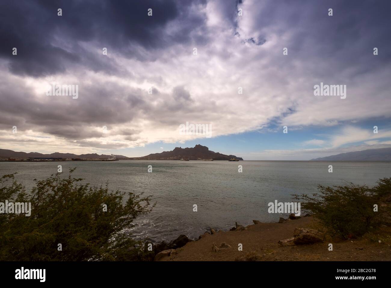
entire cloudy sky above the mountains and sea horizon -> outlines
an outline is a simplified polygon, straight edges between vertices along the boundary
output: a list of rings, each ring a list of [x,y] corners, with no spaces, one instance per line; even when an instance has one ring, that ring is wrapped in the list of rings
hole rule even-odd
[[[309,160],[391,147],[390,9],[2,1],[0,148],[138,157],[201,144],[245,160]],[[316,95],[321,83],[344,96]],[[48,95],[52,85],[77,85],[77,97]],[[186,123],[210,134],[183,133]]]

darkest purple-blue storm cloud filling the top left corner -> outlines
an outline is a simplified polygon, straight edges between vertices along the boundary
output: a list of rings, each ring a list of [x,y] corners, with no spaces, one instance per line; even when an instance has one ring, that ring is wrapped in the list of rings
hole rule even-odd
[[[162,49],[190,41],[190,31],[204,18],[191,13],[193,3],[203,1],[2,1],[0,4],[0,58],[8,60],[14,74],[44,76],[82,64],[93,71],[115,71],[107,59],[92,56],[80,42],[93,42],[127,58],[146,60],[137,46]],[[63,16],[57,16],[61,8]],[[147,10],[152,9],[152,16]],[[167,23],[178,21],[179,29],[168,35]],[[186,20],[186,21],[184,21]],[[12,49],[18,55],[12,55]],[[102,52],[100,52],[102,53]],[[151,59],[148,59],[151,60]]]

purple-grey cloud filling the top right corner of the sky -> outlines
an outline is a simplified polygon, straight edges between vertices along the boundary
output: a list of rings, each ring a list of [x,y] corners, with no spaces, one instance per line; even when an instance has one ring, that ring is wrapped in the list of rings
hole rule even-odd
[[[328,16],[329,8],[333,16]],[[381,0],[269,0],[262,9],[247,13],[256,19],[255,31],[294,35],[289,42],[281,42],[291,59],[304,62],[311,58],[317,72],[330,76],[331,70],[341,67],[355,67],[358,74],[369,72],[391,60],[390,9],[391,2]],[[373,56],[374,47],[379,49],[379,56]],[[320,67],[318,60],[325,59],[330,65]],[[286,68],[287,59],[276,63]]]

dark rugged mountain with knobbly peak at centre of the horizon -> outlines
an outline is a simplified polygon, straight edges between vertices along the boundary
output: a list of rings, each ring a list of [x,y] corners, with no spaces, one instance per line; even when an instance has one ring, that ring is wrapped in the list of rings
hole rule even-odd
[[[236,158],[243,160],[240,157],[235,155],[224,155],[210,151],[208,147],[202,145],[195,145],[193,148],[181,148],[176,147],[172,151],[164,151],[161,153],[149,154],[143,157],[130,158],[134,160],[180,160],[189,159],[189,160],[198,160],[198,159],[213,159],[213,160],[229,160],[231,158]]]

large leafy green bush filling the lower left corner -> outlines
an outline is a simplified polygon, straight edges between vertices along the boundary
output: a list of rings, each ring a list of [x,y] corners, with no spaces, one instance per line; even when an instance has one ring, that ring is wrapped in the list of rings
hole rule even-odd
[[[35,181],[30,192],[4,175],[0,202],[31,202],[31,216],[0,214],[0,261],[142,260],[141,243],[123,231],[142,214],[151,212],[151,197],[106,186],[91,187],[83,179],[59,174]],[[124,196],[129,199],[124,201]],[[107,212],[104,212],[104,204]],[[62,251],[58,251],[58,244]]]

